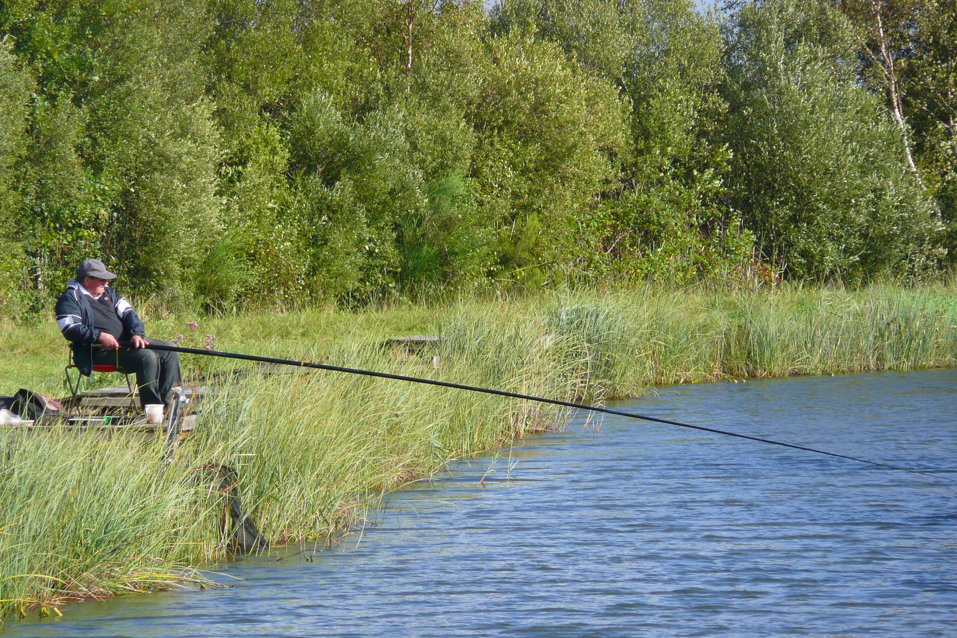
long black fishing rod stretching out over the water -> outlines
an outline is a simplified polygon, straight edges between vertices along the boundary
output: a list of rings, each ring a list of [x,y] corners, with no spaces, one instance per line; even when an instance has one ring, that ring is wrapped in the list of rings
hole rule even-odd
[[[133,343],[129,341],[120,341],[120,345],[124,347],[135,347]],[[279,365],[295,365],[298,367],[307,367],[314,368],[318,370],[329,370],[331,372],[345,372],[346,374],[359,374],[366,377],[378,377],[380,379],[394,379],[396,381],[408,381],[413,384],[428,384],[428,385],[438,385],[440,387],[452,387],[457,390],[469,390],[471,392],[481,392],[483,394],[496,394],[501,397],[510,397],[512,399],[523,399],[524,401],[536,401],[538,403],[551,404],[553,406],[562,406],[562,407],[574,407],[576,409],[590,410],[591,412],[602,412],[605,414],[614,414],[615,416],[627,416],[632,419],[641,419],[642,421],[652,421],[654,423],[663,423],[668,426],[678,426],[679,428],[689,428],[689,429],[700,429],[704,432],[713,432],[715,434],[724,434],[726,436],[734,436],[739,439],[747,439],[749,441],[758,441],[760,443],[769,443],[771,445],[781,446],[782,448],[792,448],[794,450],[803,450],[811,451],[815,454],[826,454],[828,456],[835,456],[836,458],[846,458],[851,461],[857,461],[858,463],[867,463],[868,465],[875,465],[879,468],[886,468],[888,470],[898,470],[900,472],[907,472],[912,474],[924,474],[924,476],[933,476],[934,478],[941,478],[946,481],[957,482],[957,479],[950,478],[948,476],[941,476],[935,473],[921,472],[920,470],[911,470],[909,468],[901,468],[896,465],[888,465],[887,463],[878,463],[877,461],[868,461],[864,458],[857,458],[857,456],[848,456],[847,454],[838,454],[833,451],[823,451],[815,450],[814,448],[806,448],[804,446],[794,445],[792,443],[783,443],[781,441],[773,441],[771,439],[764,439],[758,436],[748,436],[747,434],[739,434],[738,432],[729,432],[724,429],[715,429],[715,428],[705,428],[704,426],[692,426],[688,423],[681,423],[680,421],[669,421],[668,419],[659,419],[656,416],[647,416],[645,414],[635,414],[634,412],[623,412],[617,409],[610,409],[608,407],[597,407],[597,406],[587,406],[585,404],[576,404],[570,401],[559,401],[558,399],[546,399],[545,397],[535,397],[530,394],[519,394],[518,392],[506,392],[505,390],[494,390],[488,387],[479,387],[478,385],[461,385],[461,384],[452,384],[447,381],[434,381],[433,379],[422,379],[419,377],[407,377],[401,374],[389,374],[388,372],[375,372],[373,370],[362,370],[354,367],[343,367],[341,365],[326,365],[325,363],[312,363],[312,362],[302,362],[296,361],[293,359],[276,359],[274,357],[257,357],[256,355],[243,355],[238,352],[222,352],[221,350],[200,350],[199,348],[184,348],[178,345],[162,345],[160,343],[150,343],[145,346],[150,350],[167,350],[168,352],[182,352],[189,355],[204,355],[207,357],[222,357],[224,359],[239,359],[242,361],[252,361],[259,363],[277,363]]]

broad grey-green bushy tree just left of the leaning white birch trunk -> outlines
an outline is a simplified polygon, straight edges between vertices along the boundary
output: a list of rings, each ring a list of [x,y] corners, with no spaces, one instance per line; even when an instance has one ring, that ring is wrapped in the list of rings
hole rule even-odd
[[[815,37],[823,29],[828,38]],[[848,81],[835,11],[748,5],[728,33],[731,203],[790,276],[854,281],[935,266],[941,227],[879,99]]]

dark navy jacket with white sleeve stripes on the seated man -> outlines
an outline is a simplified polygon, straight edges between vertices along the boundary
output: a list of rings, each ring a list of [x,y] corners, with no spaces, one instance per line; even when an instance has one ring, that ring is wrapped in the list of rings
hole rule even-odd
[[[136,335],[145,337],[143,321],[136,316],[133,306],[110,288],[103,293],[113,302],[113,309],[122,322],[123,336],[130,339]],[[93,327],[93,311],[89,297],[80,290],[76,279],[70,279],[66,290],[56,299],[56,325],[73,348],[73,363],[80,374],[87,377],[93,371],[93,344],[100,341],[100,330]]]

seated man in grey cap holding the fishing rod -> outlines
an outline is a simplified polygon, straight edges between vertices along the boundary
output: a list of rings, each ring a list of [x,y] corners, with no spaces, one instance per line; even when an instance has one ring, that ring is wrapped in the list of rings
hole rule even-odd
[[[136,373],[140,405],[166,405],[174,385],[181,385],[179,354],[149,350],[143,321],[133,307],[107,284],[117,275],[100,259],[86,259],[77,267],[66,290],[56,300],[56,325],[71,341],[73,361],[80,374],[90,376],[94,365],[114,365]],[[122,348],[129,341],[132,348]],[[170,341],[152,343],[173,345]]]

